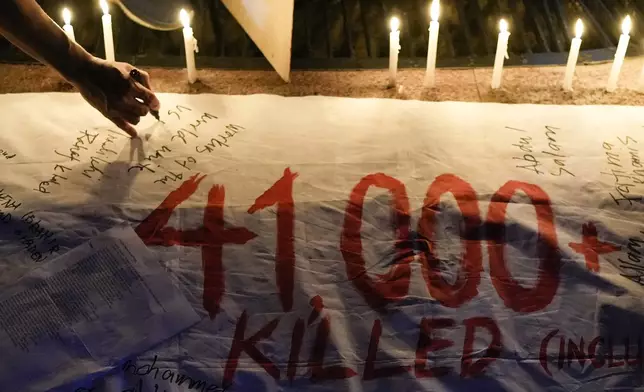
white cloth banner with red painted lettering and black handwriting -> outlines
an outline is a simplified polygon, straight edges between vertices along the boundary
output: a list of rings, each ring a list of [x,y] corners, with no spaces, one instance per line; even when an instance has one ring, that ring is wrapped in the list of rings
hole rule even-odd
[[[124,220],[202,315],[67,391],[639,385],[642,108],[165,95],[130,141],[49,99],[0,96],[0,251]]]

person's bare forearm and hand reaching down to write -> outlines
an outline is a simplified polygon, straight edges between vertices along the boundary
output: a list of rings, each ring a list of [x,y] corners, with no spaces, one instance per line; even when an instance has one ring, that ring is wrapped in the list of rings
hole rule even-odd
[[[138,83],[129,76],[131,65],[92,56],[69,40],[35,0],[0,0],[0,34],[56,69],[87,102],[131,136],[136,136],[133,125],[141,116],[159,109],[146,72],[139,71],[143,83]]]

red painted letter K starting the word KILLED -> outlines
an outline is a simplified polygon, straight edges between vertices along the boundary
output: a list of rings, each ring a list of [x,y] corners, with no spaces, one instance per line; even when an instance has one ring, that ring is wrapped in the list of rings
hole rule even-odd
[[[235,371],[237,370],[237,365],[239,364],[239,357],[242,353],[246,353],[251,357],[255,362],[257,362],[268,374],[270,374],[275,380],[280,378],[280,370],[269,360],[264,354],[262,354],[256,347],[257,343],[260,340],[268,339],[273,334],[273,331],[277,328],[280,319],[276,318],[270,323],[262,327],[257,333],[249,338],[245,338],[246,335],[246,326],[248,324],[248,313],[244,311],[237,321],[237,327],[235,328],[235,335],[233,337],[233,344],[230,347],[230,353],[228,354],[228,360],[226,361],[226,369],[224,370],[224,385],[232,385],[232,381],[235,378]]]

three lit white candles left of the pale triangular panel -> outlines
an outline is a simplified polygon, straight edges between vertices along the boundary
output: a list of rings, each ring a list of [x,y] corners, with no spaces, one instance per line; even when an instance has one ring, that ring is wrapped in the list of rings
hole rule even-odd
[[[105,42],[105,59],[115,61],[114,55],[114,36],[112,33],[112,15],[110,15],[107,0],[100,0],[100,6],[103,10],[103,41]],[[186,68],[188,70],[188,81],[194,83],[197,81],[197,66],[195,63],[195,52],[199,52],[197,40],[194,37],[190,27],[190,15],[184,9],[179,11],[179,20],[183,24],[183,43],[186,49]],[[72,13],[67,8],[63,8],[63,30],[67,37],[76,42],[74,27],[72,26]]]

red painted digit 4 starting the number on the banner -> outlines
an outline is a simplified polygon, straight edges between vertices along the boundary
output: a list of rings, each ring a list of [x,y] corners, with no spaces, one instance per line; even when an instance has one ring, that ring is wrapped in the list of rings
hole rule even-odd
[[[205,177],[199,178],[199,174],[194,175],[170,192],[159,207],[139,224],[136,233],[146,245],[201,247],[204,274],[203,307],[208,311],[210,318],[214,318],[219,312],[225,291],[223,245],[245,244],[257,235],[243,227],[224,227],[225,189],[221,185],[214,185],[208,192],[202,227],[178,230],[166,226],[177,206],[197,191],[199,183]]]

